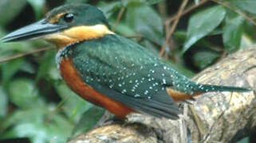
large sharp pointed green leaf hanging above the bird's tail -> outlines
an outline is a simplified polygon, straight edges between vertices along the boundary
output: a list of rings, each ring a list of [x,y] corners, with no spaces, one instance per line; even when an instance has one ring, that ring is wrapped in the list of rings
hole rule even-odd
[[[183,46],[183,53],[211,33],[223,21],[225,15],[226,10],[223,6],[213,6],[194,14],[188,22],[187,40]]]

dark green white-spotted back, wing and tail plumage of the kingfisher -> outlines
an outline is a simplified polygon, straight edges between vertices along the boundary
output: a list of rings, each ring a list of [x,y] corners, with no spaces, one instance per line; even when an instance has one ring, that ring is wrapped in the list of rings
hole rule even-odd
[[[187,94],[247,91],[240,87],[202,85],[187,79],[146,48],[116,34],[72,44],[58,52],[68,56],[85,83],[131,108],[157,117],[177,118],[179,108],[165,90]]]

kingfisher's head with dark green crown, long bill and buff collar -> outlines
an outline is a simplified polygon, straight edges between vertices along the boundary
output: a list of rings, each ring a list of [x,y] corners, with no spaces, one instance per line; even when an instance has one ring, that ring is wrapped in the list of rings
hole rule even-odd
[[[108,21],[95,6],[71,4],[57,7],[41,21],[17,29],[2,38],[2,41],[22,41],[44,38],[58,48],[112,34]]]

